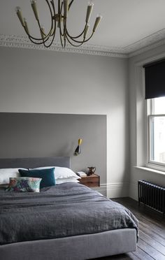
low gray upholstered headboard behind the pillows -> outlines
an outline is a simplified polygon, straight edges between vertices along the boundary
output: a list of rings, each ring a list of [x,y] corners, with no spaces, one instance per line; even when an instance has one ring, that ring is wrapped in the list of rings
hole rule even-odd
[[[70,157],[0,159],[0,168],[35,168],[43,166],[61,166],[70,168]]]

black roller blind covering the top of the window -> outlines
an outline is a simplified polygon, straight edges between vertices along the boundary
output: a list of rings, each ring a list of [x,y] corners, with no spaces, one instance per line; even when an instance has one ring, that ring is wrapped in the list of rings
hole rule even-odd
[[[145,68],[145,99],[165,96],[165,59],[143,67]]]

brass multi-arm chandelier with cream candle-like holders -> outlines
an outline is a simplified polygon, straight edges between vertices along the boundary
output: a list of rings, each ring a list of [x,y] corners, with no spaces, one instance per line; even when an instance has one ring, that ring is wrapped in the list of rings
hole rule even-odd
[[[96,28],[98,27],[99,22],[101,21],[102,17],[101,17],[101,15],[97,15],[96,20],[94,22],[94,27],[92,29],[92,34],[87,38],[87,33],[89,31],[89,19],[91,17],[92,9],[94,6],[94,3],[92,3],[92,1],[89,1],[88,6],[87,6],[86,19],[85,19],[85,27],[84,27],[83,31],[78,36],[71,36],[71,34],[69,33],[69,30],[67,28],[67,17],[68,17],[69,9],[71,8],[73,1],[74,0],[71,0],[70,2],[69,2],[69,0],[63,0],[63,1],[58,0],[58,9],[56,10],[54,0],[45,0],[45,2],[48,4],[48,8],[50,10],[50,16],[51,16],[50,31],[48,32],[48,34],[46,34],[45,29],[41,25],[40,20],[39,20],[36,0],[31,0],[31,8],[33,9],[34,16],[36,17],[36,21],[38,23],[41,38],[35,38],[35,37],[31,36],[31,34],[29,33],[27,20],[22,17],[22,12],[21,12],[20,6],[17,6],[15,8],[17,17],[19,18],[19,20],[22,24],[22,27],[24,27],[24,31],[27,33],[27,36],[29,37],[30,41],[35,44],[43,44],[46,48],[49,48],[55,39],[57,27],[59,28],[59,36],[60,36],[62,48],[65,48],[66,42],[69,42],[71,45],[73,45],[75,47],[79,47],[83,43],[86,43],[87,41],[89,41],[89,39],[92,38],[94,31],[96,31]],[[48,40],[50,40],[50,41],[48,41]]]

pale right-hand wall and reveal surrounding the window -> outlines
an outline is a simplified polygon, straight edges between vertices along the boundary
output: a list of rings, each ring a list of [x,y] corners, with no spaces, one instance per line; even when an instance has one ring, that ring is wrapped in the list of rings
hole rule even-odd
[[[130,97],[130,192],[129,196],[138,199],[138,180],[148,180],[165,185],[165,174],[145,171],[135,166],[145,166],[146,127],[143,64],[165,57],[165,45],[129,59],[129,97]]]

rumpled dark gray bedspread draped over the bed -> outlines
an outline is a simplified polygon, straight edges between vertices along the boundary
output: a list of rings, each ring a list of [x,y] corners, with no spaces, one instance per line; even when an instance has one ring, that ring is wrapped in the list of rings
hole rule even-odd
[[[138,231],[136,217],[84,185],[63,183],[39,194],[0,191],[0,245],[125,228]]]

